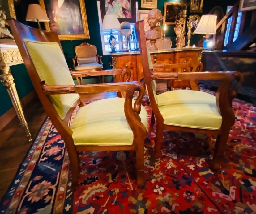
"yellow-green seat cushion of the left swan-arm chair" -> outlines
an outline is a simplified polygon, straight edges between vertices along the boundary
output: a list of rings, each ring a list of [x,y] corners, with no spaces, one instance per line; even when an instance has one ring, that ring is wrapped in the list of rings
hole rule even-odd
[[[114,97],[81,107],[70,125],[75,145],[131,145],[133,132],[126,121],[124,101],[124,98]],[[139,116],[147,127],[147,112],[143,106]]]

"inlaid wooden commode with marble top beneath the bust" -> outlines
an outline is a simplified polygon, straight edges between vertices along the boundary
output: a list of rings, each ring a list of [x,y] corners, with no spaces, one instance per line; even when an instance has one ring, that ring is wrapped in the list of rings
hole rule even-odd
[[[202,48],[171,48],[162,50],[150,50],[153,64],[191,63],[201,61]],[[130,69],[132,80],[140,81],[143,78],[142,61],[139,51],[118,52],[112,54],[113,68]],[[164,71],[173,72],[173,71]],[[180,80],[179,80],[180,81]]]

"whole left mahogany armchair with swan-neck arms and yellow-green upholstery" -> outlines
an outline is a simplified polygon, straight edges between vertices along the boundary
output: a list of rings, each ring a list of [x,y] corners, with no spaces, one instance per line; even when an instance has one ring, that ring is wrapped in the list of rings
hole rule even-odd
[[[72,189],[79,179],[79,151],[135,150],[137,185],[144,185],[143,142],[147,136],[147,112],[139,82],[75,85],[58,34],[8,20],[36,93],[49,119],[65,142],[72,171]],[[95,73],[96,72],[96,73]],[[84,75],[125,76],[126,69],[83,71]],[[74,71],[75,73],[75,71]],[[80,94],[126,91],[125,98],[107,98],[83,106]],[[139,91],[136,100],[133,94]],[[75,109],[77,114],[71,121]]]

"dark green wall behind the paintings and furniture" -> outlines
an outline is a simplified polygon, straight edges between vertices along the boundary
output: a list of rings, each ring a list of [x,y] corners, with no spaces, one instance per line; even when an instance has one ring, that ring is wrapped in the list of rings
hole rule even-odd
[[[214,6],[222,7],[224,14],[225,14],[227,5],[233,5],[236,1],[237,0],[204,0],[203,14],[208,14],[209,11],[211,10],[211,8],[213,8]],[[164,13],[164,2],[165,2],[164,0],[158,0],[158,2],[157,2],[157,8],[162,11],[162,14]],[[183,2],[188,3],[189,0],[184,0]],[[18,5],[15,5],[15,12],[16,12],[18,21],[20,21],[26,25],[32,26],[32,27],[37,27],[36,22],[25,21],[28,4],[31,4],[31,3],[38,3],[38,1],[37,0],[21,0]],[[138,0],[139,10],[146,9],[146,8],[141,8],[140,5],[141,5],[141,0]],[[75,56],[74,47],[79,45],[82,42],[89,42],[93,45],[96,45],[98,54],[102,55],[99,18],[98,18],[96,0],[85,0],[85,8],[86,8],[86,13],[87,13],[90,39],[61,41],[65,57],[66,57],[68,66],[70,68],[73,66],[72,58]],[[193,14],[198,14],[200,16],[202,15],[200,13],[193,13]],[[187,15],[188,16],[191,15],[189,12],[189,6],[188,6],[188,14]],[[173,27],[174,27],[174,25],[168,26],[167,31],[166,31],[166,37],[171,37],[171,39],[173,41],[173,47],[175,47],[175,34],[173,31]],[[196,44],[199,39],[200,39],[200,36],[192,35],[191,44]],[[108,56],[102,55],[102,60],[103,60],[105,69],[110,68],[109,59],[110,59],[109,55]],[[27,71],[26,71],[24,65],[12,66],[11,72],[15,79],[19,98],[22,99],[25,95],[27,95],[33,89],[32,83],[28,77],[28,74],[27,74]],[[12,104],[11,104],[11,100],[7,94],[7,91],[3,87],[2,83],[0,83],[0,93],[1,93],[0,115],[3,115],[6,111],[8,111],[12,107]]]

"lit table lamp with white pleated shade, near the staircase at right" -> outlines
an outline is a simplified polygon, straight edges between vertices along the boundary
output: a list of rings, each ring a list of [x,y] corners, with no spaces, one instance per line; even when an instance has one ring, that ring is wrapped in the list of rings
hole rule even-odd
[[[213,47],[213,42],[209,40],[210,34],[216,34],[216,15],[202,15],[197,28],[194,33],[205,34],[205,40],[203,42],[204,49],[211,49]]]

